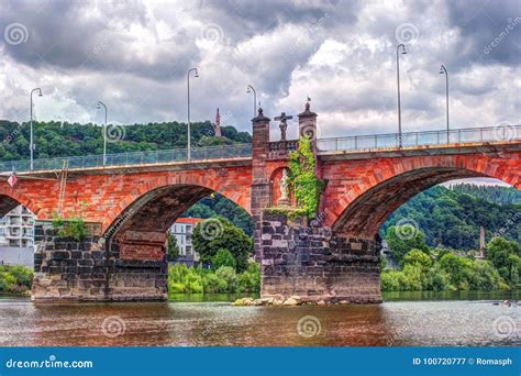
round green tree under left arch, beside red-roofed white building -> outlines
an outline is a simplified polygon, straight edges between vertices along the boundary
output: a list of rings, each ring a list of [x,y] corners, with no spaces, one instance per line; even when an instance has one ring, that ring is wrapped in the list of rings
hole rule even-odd
[[[203,263],[211,263],[219,250],[230,251],[239,273],[246,269],[253,253],[252,237],[222,217],[198,223],[193,229],[192,244]]]

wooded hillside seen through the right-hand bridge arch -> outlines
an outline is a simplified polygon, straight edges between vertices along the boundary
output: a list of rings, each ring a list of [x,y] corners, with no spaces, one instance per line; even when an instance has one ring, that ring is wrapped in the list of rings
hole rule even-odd
[[[520,191],[507,187],[458,185],[453,189],[436,186],[413,197],[386,221],[380,230],[399,221],[417,223],[430,246],[454,250],[479,248],[480,226],[486,241],[505,236],[521,243]],[[508,202],[508,203],[498,203]]]

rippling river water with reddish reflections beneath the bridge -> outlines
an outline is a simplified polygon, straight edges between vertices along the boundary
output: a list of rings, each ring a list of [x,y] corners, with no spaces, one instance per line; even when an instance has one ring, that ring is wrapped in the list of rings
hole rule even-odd
[[[174,297],[179,300],[179,297]],[[513,292],[400,292],[381,305],[233,307],[0,299],[1,346],[520,346]],[[202,301],[201,301],[202,300]]]

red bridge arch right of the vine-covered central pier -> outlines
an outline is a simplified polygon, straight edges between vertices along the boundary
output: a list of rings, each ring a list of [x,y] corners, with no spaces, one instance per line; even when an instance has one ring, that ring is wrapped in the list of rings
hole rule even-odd
[[[519,155],[518,155],[519,158]],[[387,218],[421,191],[453,179],[490,177],[521,189],[519,161],[501,155],[419,156],[375,163],[326,211],[334,232],[374,239]]]

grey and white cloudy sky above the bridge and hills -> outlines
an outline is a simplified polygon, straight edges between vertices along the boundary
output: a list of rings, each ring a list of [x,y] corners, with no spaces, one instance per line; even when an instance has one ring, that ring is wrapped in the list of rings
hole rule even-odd
[[[0,119],[41,87],[38,120],[186,121],[197,67],[192,120],[250,131],[251,84],[271,118],[311,97],[319,136],[395,132],[404,43],[403,131],[445,126],[440,64],[453,128],[521,123],[519,0],[0,0]]]

